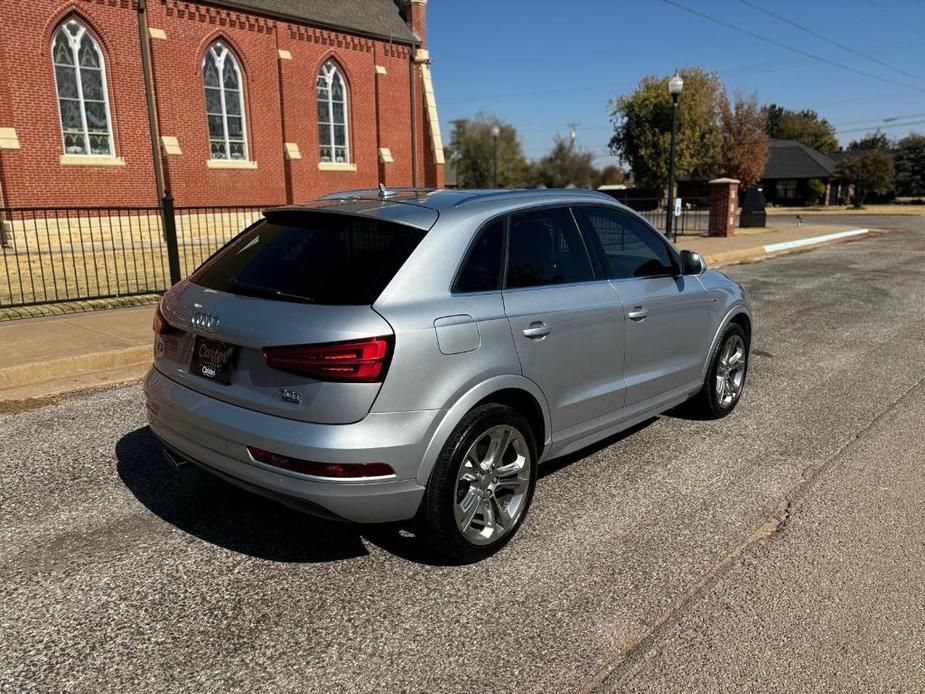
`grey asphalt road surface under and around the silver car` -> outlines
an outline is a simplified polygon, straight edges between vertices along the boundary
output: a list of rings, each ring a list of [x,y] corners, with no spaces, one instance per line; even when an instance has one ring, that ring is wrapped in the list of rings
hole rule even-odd
[[[550,463],[477,565],[173,471],[137,386],[0,415],[0,691],[925,691],[925,223],[887,222],[727,268],[736,412]]]

